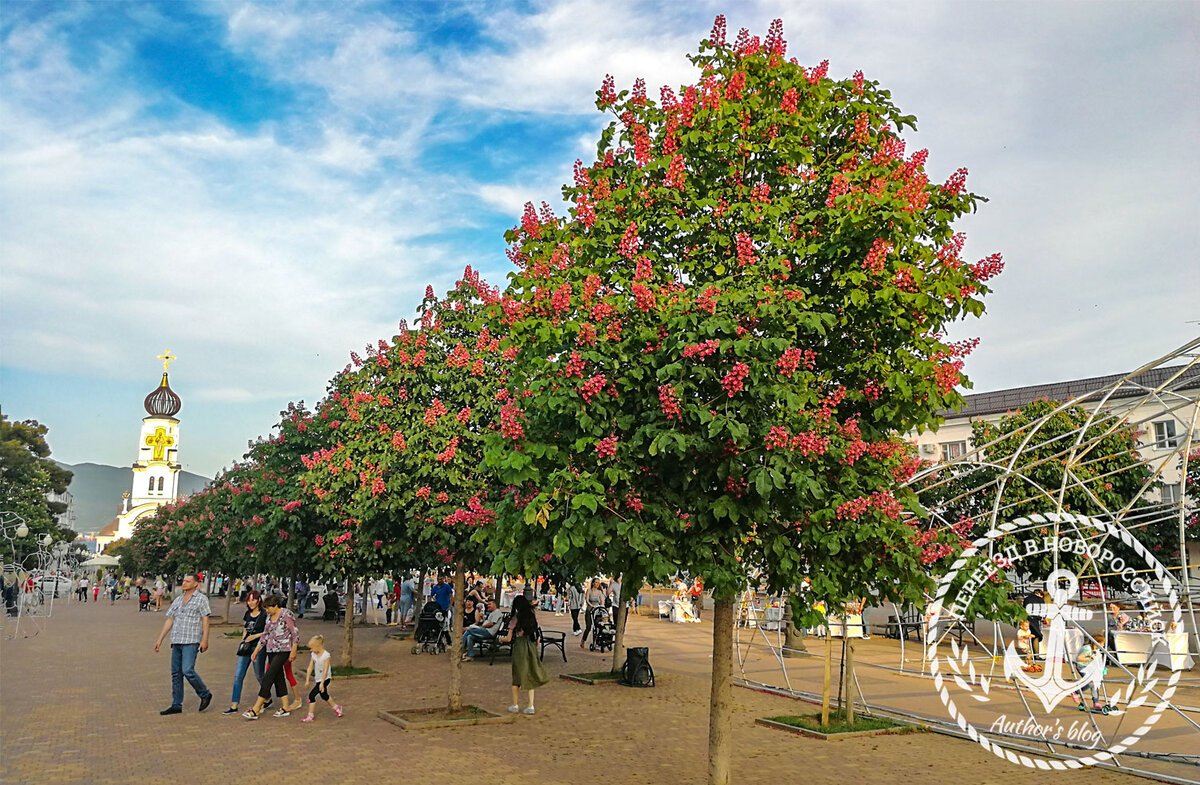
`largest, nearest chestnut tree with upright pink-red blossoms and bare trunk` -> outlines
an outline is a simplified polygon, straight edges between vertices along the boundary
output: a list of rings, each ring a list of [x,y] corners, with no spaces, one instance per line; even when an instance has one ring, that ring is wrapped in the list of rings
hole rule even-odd
[[[622,549],[648,576],[704,577],[712,783],[748,581],[919,597],[899,489],[917,462],[895,435],[961,405],[972,343],[944,332],[1001,270],[961,258],[966,170],[931,181],[887,90],[788,60],[781,32],[731,43],[719,17],[698,82],[658,101],[606,79],[598,157],[566,216],[527,205],[500,304],[517,355],[492,460],[520,502],[497,535],[528,564]]]

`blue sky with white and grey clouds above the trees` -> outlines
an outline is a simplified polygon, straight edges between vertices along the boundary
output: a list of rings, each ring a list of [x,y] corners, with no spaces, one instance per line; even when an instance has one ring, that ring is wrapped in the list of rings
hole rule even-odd
[[[1002,252],[976,391],[1133,370],[1200,334],[1200,2],[0,4],[0,408],[128,465],[170,349],[212,475],[560,203],[605,74],[697,80],[725,13],[918,118]],[[562,210],[558,210],[562,212]]]

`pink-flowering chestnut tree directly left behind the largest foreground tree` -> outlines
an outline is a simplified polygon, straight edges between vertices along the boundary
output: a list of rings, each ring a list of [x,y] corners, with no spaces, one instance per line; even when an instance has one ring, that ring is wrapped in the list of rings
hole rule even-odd
[[[415,329],[401,323],[391,342],[353,355],[356,368],[335,382],[320,412],[334,444],[305,457],[312,495],[338,522],[318,540],[323,553],[454,567],[451,712],[462,708],[464,570],[484,564],[473,537],[494,519],[484,444],[515,354],[502,354],[484,318],[498,298],[469,266],[444,298],[427,288]]]

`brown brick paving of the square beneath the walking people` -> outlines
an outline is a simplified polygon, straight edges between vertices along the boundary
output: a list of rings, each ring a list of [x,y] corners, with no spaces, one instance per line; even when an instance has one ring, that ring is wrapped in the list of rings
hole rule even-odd
[[[214,599],[217,612],[223,606],[223,600]],[[242,606],[234,609],[240,615]],[[510,725],[403,731],[376,712],[440,705],[449,663],[445,655],[410,654],[410,645],[388,640],[389,628],[383,627],[355,630],[354,661],[390,676],[335,678],[332,696],[347,709],[342,719],[325,706],[318,707],[312,724],[301,724],[298,714],[264,715],[256,723],[222,717],[236,641],[223,637],[221,628],[197,663],[214,691],[212,706],[198,714],[197,697],[185,684],[184,714],[160,717],[170,702],[169,653],[152,652],[162,621],[161,613],[139,613],[132,601],[59,605],[36,636],[0,641],[0,781],[203,785],[247,781],[256,769],[265,775],[281,771],[287,781],[330,785],[704,781],[707,623],[682,628],[631,617],[629,642],[650,646],[655,689],[588,687],[556,678],[538,690],[536,717],[521,717]],[[570,629],[569,617],[542,613],[541,623],[546,629]],[[300,631],[301,640],[325,635],[336,661],[338,625],[302,619]],[[601,670],[611,663],[611,654],[581,652],[576,643],[568,636],[566,664],[557,653],[547,654],[551,676]],[[301,653],[298,673],[306,663]],[[504,712],[508,660],[494,666],[472,663],[464,670],[464,700]],[[252,683],[247,677],[244,706],[253,695]],[[754,725],[755,717],[796,713],[799,707],[790,699],[734,690],[734,781],[977,784],[1028,783],[1033,777],[1091,785],[1130,781],[1102,771],[1034,775],[996,761],[973,743],[934,733],[820,742]]]

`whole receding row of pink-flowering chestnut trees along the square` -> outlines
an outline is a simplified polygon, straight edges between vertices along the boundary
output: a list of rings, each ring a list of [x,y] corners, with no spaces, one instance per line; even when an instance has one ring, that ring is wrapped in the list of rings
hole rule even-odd
[[[140,565],[364,575],[442,565],[712,589],[709,781],[730,779],[733,599],[929,586],[896,436],[962,403],[998,257],[960,258],[965,170],[931,182],[916,120],[860,73],[787,59],[725,20],[700,80],[608,79],[614,119],[566,215],[527,205],[502,293],[469,268],[370,347],[316,409],[130,545]],[[461,612],[455,615],[461,619]],[[452,636],[456,642],[460,636]],[[619,649],[618,649],[619,651]],[[449,703],[461,702],[457,652]]]

